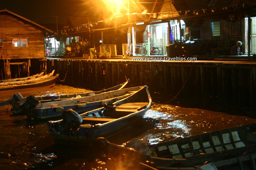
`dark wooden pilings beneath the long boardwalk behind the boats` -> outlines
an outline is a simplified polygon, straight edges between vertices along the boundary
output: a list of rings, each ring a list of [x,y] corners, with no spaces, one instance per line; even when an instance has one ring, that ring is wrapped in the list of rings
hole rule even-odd
[[[124,82],[148,85],[155,101],[177,98],[194,107],[255,116],[256,65],[243,62],[131,62],[48,59],[61,84],[99,90]],[[49,70],[48,70],[49,71]],[[157,94],[159,94],[157,96]],[[193,107],[193,106],[191,106]]]

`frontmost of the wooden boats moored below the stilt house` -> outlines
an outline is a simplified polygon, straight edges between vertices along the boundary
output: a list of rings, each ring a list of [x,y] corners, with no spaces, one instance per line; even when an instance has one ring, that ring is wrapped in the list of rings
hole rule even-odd
[[[13,83],[13,84],[8,84],[8,85],[0,85],[0,91],[1,92],[10,92],[10,91],[16,91],[20,89],[26,89],[26,88],[38,88],[38,87],[51,87],[55,85],[55,82],[57,78],[59,77],[59,74],[48,77],[48,78],[43,78],[35,81],[30,81],[26,83]]]

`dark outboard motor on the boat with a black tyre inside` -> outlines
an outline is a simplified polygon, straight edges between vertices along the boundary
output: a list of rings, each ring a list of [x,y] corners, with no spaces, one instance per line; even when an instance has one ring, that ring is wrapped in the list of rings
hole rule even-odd
[[[49,121],[51,125],[49,126],[49,130],[54,135],[61,135],[67,132],[67,135],[74,136],[76,130],[80,127],[83,122],[83,118],[76,113],[73,109],[65,110],[62,114],[63,121],[53,123]]]

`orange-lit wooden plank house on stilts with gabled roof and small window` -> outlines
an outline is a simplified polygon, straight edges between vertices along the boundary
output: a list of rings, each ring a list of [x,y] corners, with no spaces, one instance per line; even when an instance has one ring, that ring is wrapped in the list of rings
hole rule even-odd
[[[7,9],[0,10],[0,79],[27,77],[44,62],[44,37],[53,31]],[[45,68],[44,68],[45,69]]]

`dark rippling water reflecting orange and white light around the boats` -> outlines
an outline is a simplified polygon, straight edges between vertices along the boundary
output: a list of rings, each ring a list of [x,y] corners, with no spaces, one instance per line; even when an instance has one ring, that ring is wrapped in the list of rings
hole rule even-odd
[[[26,91],[22,95],[44,96],[85,91],[55,85],[48,90]],[[0,100],[7,100],[12,94],[0,94]],[[0,169],[124,169],[111,159],[106,162],[99,161],[92,148],[54,144],[46,125],[47,121],[28,121],[25,115],[10,116],[8,106],[0,107],[0,110]],[[133,137],[138,137],[145,143],[154,143],[176,136],[187,137],[256,122],[256,119],[246,116],[156,103],[146,112],[144,120],[108,140],[122,144]]]

